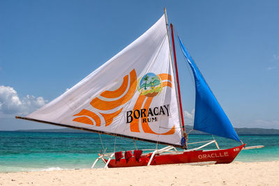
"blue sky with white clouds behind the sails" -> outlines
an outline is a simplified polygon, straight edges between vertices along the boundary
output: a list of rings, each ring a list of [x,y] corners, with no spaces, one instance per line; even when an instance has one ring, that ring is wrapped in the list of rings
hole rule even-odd
[[[0,130],[43,106],[142,35],[167,8],[234,127],[279,129],[279,1],[0,1]],[[183,110],[195,88],[176,46]]]

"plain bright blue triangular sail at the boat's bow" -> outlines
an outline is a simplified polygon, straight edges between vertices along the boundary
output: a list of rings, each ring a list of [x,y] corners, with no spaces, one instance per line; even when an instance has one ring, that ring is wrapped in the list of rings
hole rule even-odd
[[[240,141],[234,127],[232,127],[232,123],[227,118],[227,115],[216,100],[208,84],[206,84],[202,73],[199,72],[197,65],[180,38],[179,44],[195,77],[196,100],[194,129]]]

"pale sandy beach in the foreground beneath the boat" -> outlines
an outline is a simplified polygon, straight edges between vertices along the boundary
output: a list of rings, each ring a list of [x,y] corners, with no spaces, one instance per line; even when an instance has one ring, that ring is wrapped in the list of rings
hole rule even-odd
[[[279,161],[0,173],[0,185],[279,185]]]

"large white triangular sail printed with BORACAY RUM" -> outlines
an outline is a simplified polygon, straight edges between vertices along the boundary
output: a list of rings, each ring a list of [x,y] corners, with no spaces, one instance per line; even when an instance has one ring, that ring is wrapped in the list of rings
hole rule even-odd
[[[165,15],[140,38],[27,118],[180,145]]]

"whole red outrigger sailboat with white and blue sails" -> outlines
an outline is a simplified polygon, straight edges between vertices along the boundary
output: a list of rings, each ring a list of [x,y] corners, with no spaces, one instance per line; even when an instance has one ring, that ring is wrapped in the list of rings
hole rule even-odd
[[[98,160],[105,162],[105,168],[232,162],[246,144],[239,139],[178,36],[183,56],[195,78],[193,130],[240,143],[220,149],[213,139],[195,142],[202,145],[188,149],[172,24],[170,29],[172,42],[165,11],[140,38],[73,88],[28,116],[16,118],[166,145],[161,149],[128,150],[125,158],[122,152],[103,152],[92,168]],[[216,144],[216,149],[202,150],[210,144]]]

